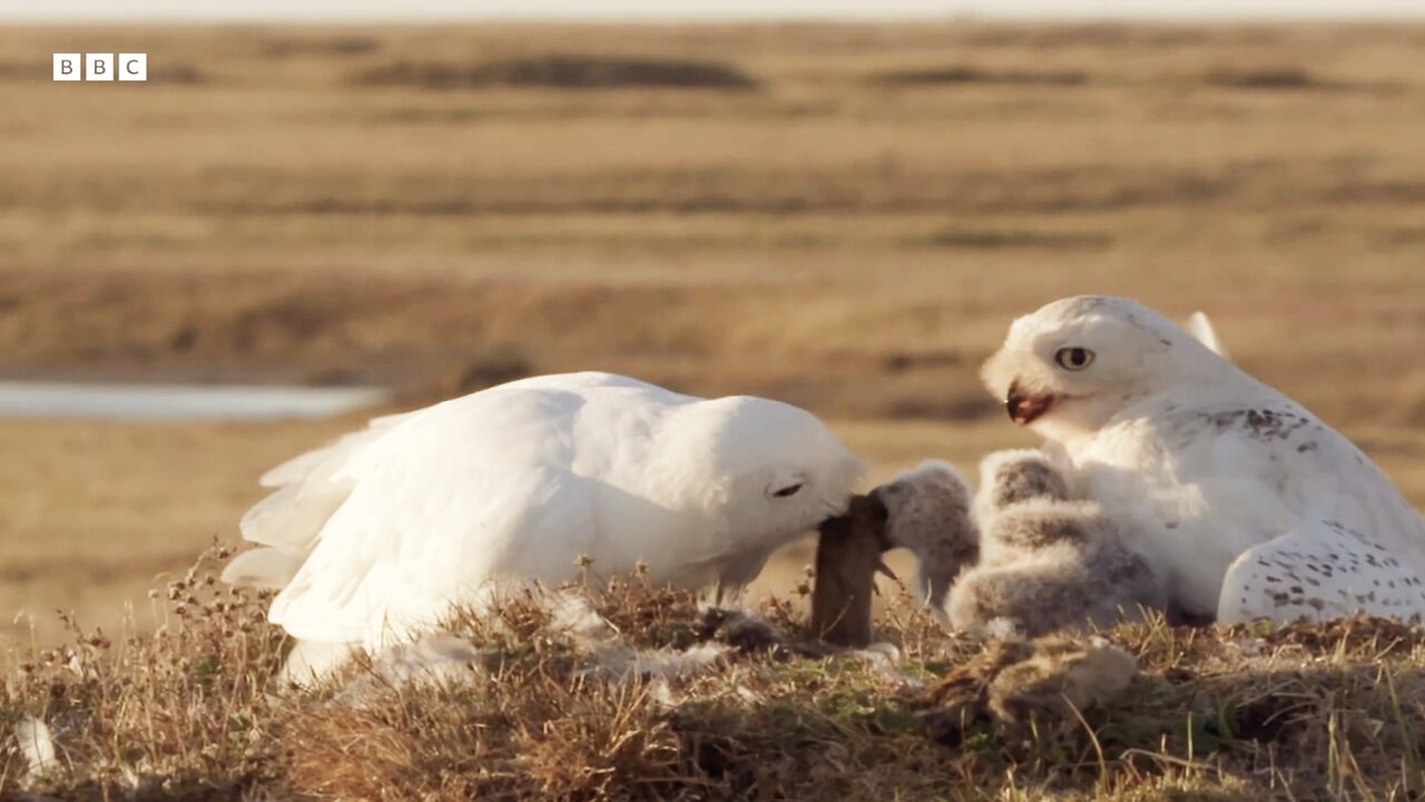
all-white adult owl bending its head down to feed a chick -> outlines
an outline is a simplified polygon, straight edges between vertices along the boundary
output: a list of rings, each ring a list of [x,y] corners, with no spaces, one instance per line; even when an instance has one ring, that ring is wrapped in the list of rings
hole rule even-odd
[[[231,584],[275,588],[298,639],[288,674],[323,674],[509,578],[546,584],[647,565],[735,591],[841,514],[861,461],[812,414],[680,395],[603,372],[503,384],[359,432],[262,477],[242,518],[261,548]]]

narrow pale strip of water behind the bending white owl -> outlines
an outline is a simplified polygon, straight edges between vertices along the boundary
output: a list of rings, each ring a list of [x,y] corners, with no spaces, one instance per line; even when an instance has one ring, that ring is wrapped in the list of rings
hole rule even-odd
[[[389,397],[378,387],[0,381],[0,418],[272,421],[325,418]]]

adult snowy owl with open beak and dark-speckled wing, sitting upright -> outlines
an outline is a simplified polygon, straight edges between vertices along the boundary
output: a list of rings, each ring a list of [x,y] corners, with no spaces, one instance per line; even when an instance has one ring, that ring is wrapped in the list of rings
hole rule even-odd
[[[1198,337],[1134,301],[1064,298],[1016,320],[982,377],[1064,457],[1073,495],[1139,538],[1183,612],[1425,612],[1425,524],[1399,491]]]

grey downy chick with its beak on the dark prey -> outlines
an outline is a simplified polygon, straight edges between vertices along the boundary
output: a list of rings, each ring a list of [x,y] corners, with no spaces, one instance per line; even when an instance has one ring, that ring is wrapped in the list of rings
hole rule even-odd
[[[949,462],[926,460],[871,494],[886,507],[886,539],[916,555],[916,595],[942,609],[955,577],[979,551],[965,479]]]

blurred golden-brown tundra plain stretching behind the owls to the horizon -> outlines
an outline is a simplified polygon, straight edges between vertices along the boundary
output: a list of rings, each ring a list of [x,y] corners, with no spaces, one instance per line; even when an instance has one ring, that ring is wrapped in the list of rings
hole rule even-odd
[[[1422,143],[1425,26],[3,27],[0,375],[613,370],[802,404],[879,479],[1027,442],[979,361],[1112,293],[1207,311],[1425,504]],[[370,412],[0,420],[6,636],[150,624]]]

